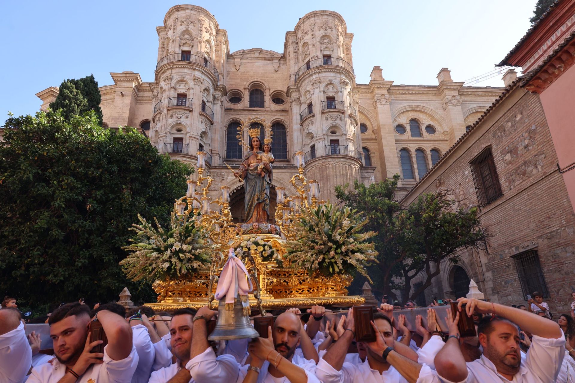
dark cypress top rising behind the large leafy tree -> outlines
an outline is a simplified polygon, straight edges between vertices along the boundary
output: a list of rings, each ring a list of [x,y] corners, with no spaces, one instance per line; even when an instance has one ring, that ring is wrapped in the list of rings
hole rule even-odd
[[[90,75],[81,79],[67,79],[62,82],[59,94],[56,96],[56,100],[50,104],[50,108],[52,110],[62,109],[66,119],[93,110],[99,125],[102,125],[101,101],[102,96],[98,82],[94,79],[94,75]]]

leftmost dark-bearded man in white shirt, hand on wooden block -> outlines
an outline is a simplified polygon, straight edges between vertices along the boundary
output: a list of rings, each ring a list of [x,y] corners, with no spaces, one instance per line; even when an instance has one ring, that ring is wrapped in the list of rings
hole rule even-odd
[[[138,364],[132,330],[126,320],[108,310],[93,318],[108,338],[104,353],[91,350],[90,309],[78,302],[57,308],[48,320],[57,360],[34,367],[27,383],[130,383]]]

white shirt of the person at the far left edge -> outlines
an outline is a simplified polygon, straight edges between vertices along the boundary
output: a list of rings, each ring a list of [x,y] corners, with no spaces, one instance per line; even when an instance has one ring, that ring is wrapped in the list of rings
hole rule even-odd
[[[32,365],[32,349],[24,323],[0,335],[0,382],[21,383]]]

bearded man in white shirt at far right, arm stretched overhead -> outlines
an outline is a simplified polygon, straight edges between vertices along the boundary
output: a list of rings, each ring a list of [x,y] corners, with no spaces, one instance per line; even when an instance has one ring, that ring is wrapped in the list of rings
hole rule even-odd
[[[458,312],[446,322],[449,338],[435,357],[435,369],[444,381],[451,382],[555,382],[563,356],[565,338],[559,325],[547,318],[517,308],[477,299],[460,298],[462,315],[493,314],[484,317],[477,327],[483,355],[473,362],[465,362],[459,347]],[[521,363],[519,330],[531,332],[533,339],[526,362]]]

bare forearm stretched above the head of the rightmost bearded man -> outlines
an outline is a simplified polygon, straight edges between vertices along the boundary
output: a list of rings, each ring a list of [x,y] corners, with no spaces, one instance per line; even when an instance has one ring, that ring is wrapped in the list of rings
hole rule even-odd
[[[561,328],[552,320],[543,318],[539,315],[529,315],[519,308],[508,307],[503,304],[492,303],[495,312],[493,314],[503,316],[519,326],[523,331],[531,332],[533,335],[542,338],[559,338]]]

